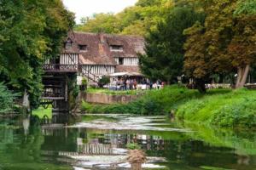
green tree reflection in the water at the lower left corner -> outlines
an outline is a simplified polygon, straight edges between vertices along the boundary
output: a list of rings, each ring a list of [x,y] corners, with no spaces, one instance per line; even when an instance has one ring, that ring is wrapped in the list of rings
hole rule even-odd
[[[41,145],[44,144],[44,136],[38,126],[29,127],[29,133],[26,134],[23,127],[3,127],[0,128],[0,138],[0,164],[3,169],[65,169],[64,166],[42,161]]]

